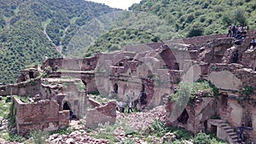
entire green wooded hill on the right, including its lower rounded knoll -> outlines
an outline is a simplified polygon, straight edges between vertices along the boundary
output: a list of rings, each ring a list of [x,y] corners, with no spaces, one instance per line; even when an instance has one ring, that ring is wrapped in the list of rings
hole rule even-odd
[[[252,30],[255,9],[255,0],[142,0],[125,11],[110,32],[90,46],[88,54],[123,49],[131,43],[226,33],[229,23]]]

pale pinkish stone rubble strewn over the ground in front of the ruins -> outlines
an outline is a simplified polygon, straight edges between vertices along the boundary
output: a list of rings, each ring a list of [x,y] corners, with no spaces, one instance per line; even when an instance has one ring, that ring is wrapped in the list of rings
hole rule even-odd
[[[113,136],[117,141],[113,142],[107,139],[97,139],[94,135],[100,135],[100,133],[106,131],[106,127],[102,127],[96,130],[86,130],[84,124],[80,121],[73,120],[70,127],[73,128],[73,132],[69,135],[54,134],[49,135],[47,143],[50,144],[108,144],[108,143],[125,143],[124,141],[132,141],[136,144],[150,143],[162,143],[165,139],[174,140],[175,135],[167,133],[162,138],[155,136],[132,135],[134,132],[142,130],[150,130],[151,124],[155,119],[164,120],[166,114],[165,107],[155,107],[152,110],[143,110],[143,112],[132,113],[119,113],[117,114],[117,123],[113,126],[113,131],[109,134]],[[148,140],[146,140],[148,139]],[[119,142],[118,142],[119,141]],[[16,142],[4,142],[0,140],[0,144],[17,144]]]

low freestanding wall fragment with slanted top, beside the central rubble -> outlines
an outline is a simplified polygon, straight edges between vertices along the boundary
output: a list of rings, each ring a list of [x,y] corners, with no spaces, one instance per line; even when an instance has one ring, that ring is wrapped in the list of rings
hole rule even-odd
[[[116,101],[109,101],[106,105],[89,109],[86,113],[86,127],[96,128],[98,124],[114,124],[116,120]]]

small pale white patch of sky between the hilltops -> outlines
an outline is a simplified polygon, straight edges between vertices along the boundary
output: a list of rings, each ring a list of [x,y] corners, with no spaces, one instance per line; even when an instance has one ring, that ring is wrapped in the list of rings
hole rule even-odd
[[[140,3],[141,0],[88,0],[95,3],[104,3],[112,8],[128,9],[133,3]]]

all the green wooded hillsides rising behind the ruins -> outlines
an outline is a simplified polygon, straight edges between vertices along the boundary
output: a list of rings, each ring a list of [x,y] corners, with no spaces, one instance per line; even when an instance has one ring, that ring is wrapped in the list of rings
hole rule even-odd
[[[142,0],[129,11],[84,0],[3,0],[0,8],[2,83],[46,57],[84,57],[256,23],[253,0]]]

